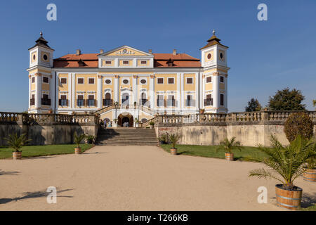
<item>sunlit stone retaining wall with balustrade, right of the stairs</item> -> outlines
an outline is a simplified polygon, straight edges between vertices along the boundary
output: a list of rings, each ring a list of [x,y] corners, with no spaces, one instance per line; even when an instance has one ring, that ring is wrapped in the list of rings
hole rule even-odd
[[[270,145],[271,134],[282,144],[289,144],[284,134],[284,122],[294,112],[258,112],[200,115],[159,115],[152,121],[157,136],[180,134],[180,144],[218,145],[228,137],[236,136],[243,146]],[[306,112],[314,123],[316,137],[316,112]]]

